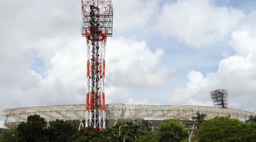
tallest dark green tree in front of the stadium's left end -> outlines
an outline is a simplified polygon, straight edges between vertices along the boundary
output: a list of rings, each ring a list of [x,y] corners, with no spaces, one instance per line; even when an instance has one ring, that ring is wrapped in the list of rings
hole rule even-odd
[[[47,130],[43,129],[45,123],[46,121],[40,115],[34,114],[28,116],[26,123],[21,122],[17,126],[18,140],[26,142],[47,141]]]

